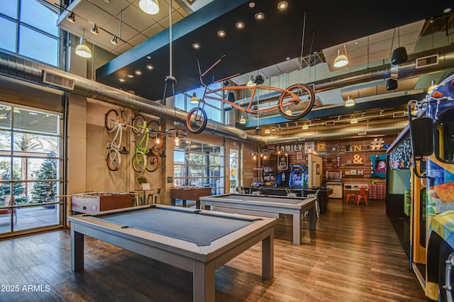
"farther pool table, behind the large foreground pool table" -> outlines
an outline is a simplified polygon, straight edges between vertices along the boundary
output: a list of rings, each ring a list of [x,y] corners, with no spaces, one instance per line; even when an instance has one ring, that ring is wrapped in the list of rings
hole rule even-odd
[[[301,245],[301,214],[309,211],[309,229],[315,230],[316,198],[221,194],[200,198],[202,208],[214,206],[219,211],[244,213],[257,216],[279,217],[280,214],[293,215],[293,244]]]

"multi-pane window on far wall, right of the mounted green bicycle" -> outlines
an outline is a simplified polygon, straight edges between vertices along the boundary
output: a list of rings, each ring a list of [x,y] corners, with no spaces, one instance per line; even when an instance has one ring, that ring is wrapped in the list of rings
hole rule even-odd
[[[224,168],[222,146],[190,140],[175,146],[175,186],[211,187],[211,194],[223,194]]]

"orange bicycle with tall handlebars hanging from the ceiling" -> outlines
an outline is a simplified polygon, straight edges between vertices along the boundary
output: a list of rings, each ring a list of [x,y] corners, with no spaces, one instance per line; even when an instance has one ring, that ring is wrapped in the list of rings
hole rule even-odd
[[[218,89],[210,89],[209,86],[211,86],[211,84],[223,82],[227,79],[231,79],[239,75],[234,74],[231,77],[219,79],[217,81],[211,82],[211,84],[208,85],[204,83],[204,75],[206,75],[207,72],[218,65],[224,57],[225,55],[221,57],[221,59],[217,60],[214,65],[211,65],[209,69],[206,69],[203,74],[200,71],[199,65],[200,82],[204,87],[204,96],[199,99],[199,104],[197,105],[197,107],[193,108],[187,113],[186,126],[189,132],[198,134],[206,128],[206,123],[208,122],[206,111],[204,110],[206,100],[221,101],[223,103],[231,105],[232,108],[236,108],[250,115],[258,115],[260,113],[267,113],[277,110],[282,117],[290,121],[296,121],[299,118],[306,116],[306,114],[309,113],[314,106],[315,94],[314,89],[312,89],[310,86],[306,84],[294,84],[292,86],[289,86],[287,89],[282,89],[275,86],[261,86],[261,84],[265,82],[265,79],[261,75],[255,77],[255,79],[253,80],[253,86],[230,86]],[[238,104],[235,104],[233,101],[229,101],[228,99],[223,99],[223,97],[221,97],[226,94],[225,92],[227,92],[228,94],[228,91],[247,89],[251,91],[252,95],[250,96],[248,106],[244,108],[242,106],[239,106]],[[259,89],[280,92],[279,98],[277,99],[277,104],[266,106],[254,104],[254,97],[256,96],[256,93]]]

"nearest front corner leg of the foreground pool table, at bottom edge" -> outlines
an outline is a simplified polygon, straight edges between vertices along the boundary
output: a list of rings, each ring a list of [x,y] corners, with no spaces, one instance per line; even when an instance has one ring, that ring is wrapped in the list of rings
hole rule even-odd
[[[214,301],[214,261],[194,260],[192,272],[193,301]]]

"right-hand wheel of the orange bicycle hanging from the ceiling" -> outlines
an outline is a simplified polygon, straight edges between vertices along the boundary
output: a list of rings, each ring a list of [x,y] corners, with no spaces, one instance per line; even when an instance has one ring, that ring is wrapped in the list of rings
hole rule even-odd
[[[279,114],[287,120],[298,120],[312,110],[315,103],[314,90],[306,84],[294,84],[279,96]],[[294,95],[298,99],[294,98]]]

